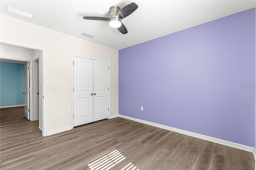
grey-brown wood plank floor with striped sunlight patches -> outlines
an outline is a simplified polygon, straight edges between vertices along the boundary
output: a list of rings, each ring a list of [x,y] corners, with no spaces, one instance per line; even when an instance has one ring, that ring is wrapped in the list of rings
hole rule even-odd
[[[0,109],[0,123],[1,170],[254,170],[251,152],[123,118],[46,137],[24,107]]]

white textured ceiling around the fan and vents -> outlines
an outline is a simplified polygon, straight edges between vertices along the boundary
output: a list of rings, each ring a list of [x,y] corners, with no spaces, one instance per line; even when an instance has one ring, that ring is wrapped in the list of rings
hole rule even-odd
[[[114,28],[108,25],[108,21],[82,18],[83,16],[108,18],[110,6],[117,5],[123,8],[131,2],[138,4],[138,9],[122,20],[128,34],[123,35],[117,30],[117,38]],[[8,13],[4,11],[5,4],[33,13],[35,17],[30,20]],[[114,49],[123,49],[255,8],[255,4],[255,0],[1,0],[0,10],[4,15]],[[81,36],[82,32],[95,37]]]

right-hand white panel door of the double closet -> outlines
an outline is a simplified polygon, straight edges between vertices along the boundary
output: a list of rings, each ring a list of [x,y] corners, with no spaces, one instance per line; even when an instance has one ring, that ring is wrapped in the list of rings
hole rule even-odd
[[[93,121],[108,118],[108,62],[93,61]]]

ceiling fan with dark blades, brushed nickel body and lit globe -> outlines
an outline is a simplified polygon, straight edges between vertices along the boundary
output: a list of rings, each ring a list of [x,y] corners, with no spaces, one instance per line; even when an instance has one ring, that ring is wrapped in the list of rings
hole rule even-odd
[[[122,19],[132,14],[138,5],[134,2],[126,5],[124,8],[120,8],[119,6],[110,6],[110,15],[108,18],[97,17],[97,16],[84,16],[85,20],[100,20],[100,21],[109,21],[109,25],[113,28],[117,28],[122,34],[127,34],[128,31],[124,24],[122,24]]]

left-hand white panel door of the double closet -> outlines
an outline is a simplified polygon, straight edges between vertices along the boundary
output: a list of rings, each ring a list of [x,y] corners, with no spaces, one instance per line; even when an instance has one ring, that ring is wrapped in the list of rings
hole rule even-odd
[[[74,127],[93,121],[93,60],[74,57]]]

